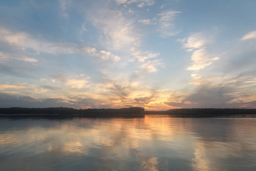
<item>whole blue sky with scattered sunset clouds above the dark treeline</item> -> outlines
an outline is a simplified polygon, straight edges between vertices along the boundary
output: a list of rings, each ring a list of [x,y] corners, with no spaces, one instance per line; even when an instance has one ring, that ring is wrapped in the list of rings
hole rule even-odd
[[[0,107],[256,108],[256,1],[0,1]]]

